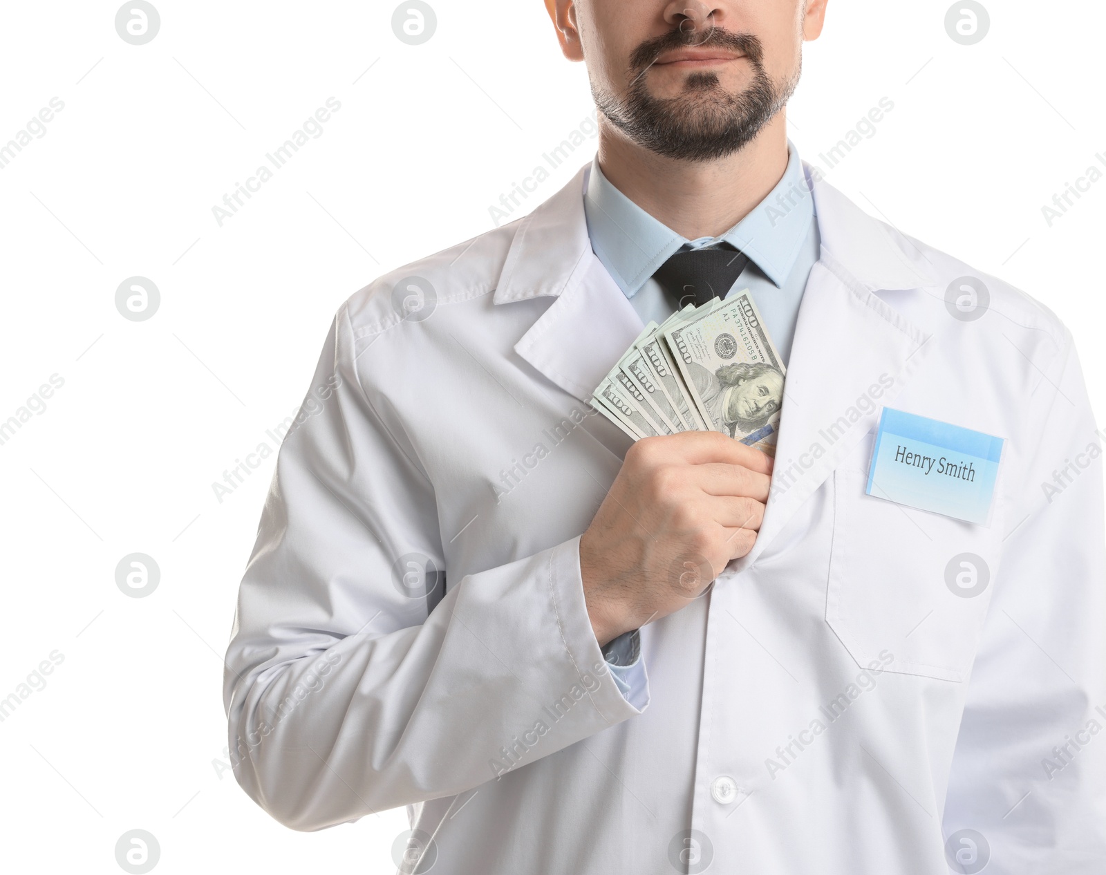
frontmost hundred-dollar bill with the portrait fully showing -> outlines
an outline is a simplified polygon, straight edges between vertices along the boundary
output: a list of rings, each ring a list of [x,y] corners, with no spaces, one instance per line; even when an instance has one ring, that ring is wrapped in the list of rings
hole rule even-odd
[[[774,447],[786,371],[748,291],[668,329],[665,340],[712,429]]]

